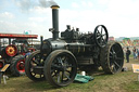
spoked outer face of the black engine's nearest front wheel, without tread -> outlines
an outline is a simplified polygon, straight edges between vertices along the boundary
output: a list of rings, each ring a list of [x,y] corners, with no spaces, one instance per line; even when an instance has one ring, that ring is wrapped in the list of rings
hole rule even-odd
[[[66,53],[62,53],[51,64],[51,78],[58,86],[66,86],[73,79],[73,75],[76,73],[75,69],[76,64],[73,57]]]

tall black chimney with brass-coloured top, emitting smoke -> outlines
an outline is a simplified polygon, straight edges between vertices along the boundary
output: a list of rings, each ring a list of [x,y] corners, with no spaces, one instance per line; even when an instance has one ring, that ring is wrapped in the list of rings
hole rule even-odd
[[[59,5],[52,5],[52,25],[53,25],[53,31],[52,31],[52,37],[53,39],[59,38]]]

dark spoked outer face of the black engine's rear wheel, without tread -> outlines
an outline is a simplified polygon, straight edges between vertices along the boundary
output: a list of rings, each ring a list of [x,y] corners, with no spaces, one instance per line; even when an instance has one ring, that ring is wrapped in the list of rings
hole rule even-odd
[[[123,67],[124,54],[121,45],[118,43],[114,43],[110,49],[109,54],[110,60],[110,68],[112,73],[117,73]]]

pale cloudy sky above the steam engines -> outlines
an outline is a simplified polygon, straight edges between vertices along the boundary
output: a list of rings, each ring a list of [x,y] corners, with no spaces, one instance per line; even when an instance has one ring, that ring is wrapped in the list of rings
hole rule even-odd
[[[72,25],[88,32],[102,24],[109,36],[139,37],[139,0],[0,0],[0,32],[29,30],[50,38],[50,2],[60,5],[60,31]]]

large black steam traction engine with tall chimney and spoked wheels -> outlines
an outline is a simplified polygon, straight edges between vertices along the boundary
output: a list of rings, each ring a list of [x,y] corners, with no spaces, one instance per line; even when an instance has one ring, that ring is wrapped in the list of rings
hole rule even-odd
[[[54,87],[64,87],[74,81],[77,68],[86,71],[102,66],[108,74],[122,70],[124,54],[118,42],[108,42],[109,34],[103,25],[93,34],[79,34],[79,29],[67,26],[59,38],[58,5],[52,5],[53,38],[41,42],[25,62],[25,71],[34,81],[48,80]]]

